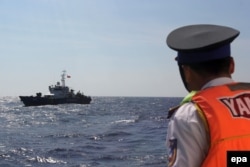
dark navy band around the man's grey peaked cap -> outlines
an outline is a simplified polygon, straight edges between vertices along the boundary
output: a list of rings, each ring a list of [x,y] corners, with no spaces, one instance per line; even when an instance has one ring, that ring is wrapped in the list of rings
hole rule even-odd
[[[183,52],[179,51],[176,60],[180,64],[194,64],[204,61],[226,58],[231,55],[230,44],[224,45],[217,49],[202,50],[200,52]]]

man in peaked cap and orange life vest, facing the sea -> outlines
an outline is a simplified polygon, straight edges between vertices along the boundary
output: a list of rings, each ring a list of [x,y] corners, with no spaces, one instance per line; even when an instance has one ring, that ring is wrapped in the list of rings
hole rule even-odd
[[[223,167],[228,150],[250,150],[250,128],[244,128],[250,127],[250,84],[231,78],[230,44],[238,35],[230,27],[205,24],[168,35],[190,93],[169,111],[169,167]]]

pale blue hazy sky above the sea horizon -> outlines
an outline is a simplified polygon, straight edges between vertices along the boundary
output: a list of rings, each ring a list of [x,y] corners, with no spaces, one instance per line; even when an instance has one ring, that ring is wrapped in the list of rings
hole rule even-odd
[[[240,30],[235,80],[250,81],[250,1],[1,0],[0,96],[47,93],[60,81],[90,96],[185,96],[166,45],[189,24]]]

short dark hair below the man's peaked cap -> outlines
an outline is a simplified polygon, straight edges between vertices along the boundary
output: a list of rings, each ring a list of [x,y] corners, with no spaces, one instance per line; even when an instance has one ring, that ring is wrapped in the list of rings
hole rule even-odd
[[[228,73],[231,58],[226,57],[197,64],[188,64],[188,66],[201,75],[218,75]]]

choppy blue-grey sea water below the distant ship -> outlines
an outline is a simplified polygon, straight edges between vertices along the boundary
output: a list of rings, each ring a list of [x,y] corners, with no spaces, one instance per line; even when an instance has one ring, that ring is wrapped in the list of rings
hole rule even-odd
[[[163,167],[167,113],[180,98],[93,97],[23,107],[0,98],[0,167]]]

